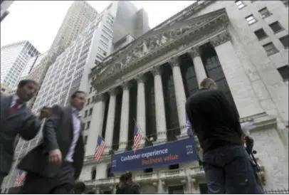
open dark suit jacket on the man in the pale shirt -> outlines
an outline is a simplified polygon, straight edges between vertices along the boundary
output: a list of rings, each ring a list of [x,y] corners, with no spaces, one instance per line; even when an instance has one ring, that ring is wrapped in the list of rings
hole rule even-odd
[[[84,145],[82,130],[73,154],[75,179],[78,179],[83,167]],[[19,169],[47,177],[56,176],[60,171],[60,167],[49,164],[48,152],[53,149],[60,149],[64,162],[72,141],[72,107],[60,107],[56,105],[53,107],[52,115],[46,119],[43,126],[43,142],[38,147],[32,149],[31,152],[28,152],[26,157],[19,163]]]

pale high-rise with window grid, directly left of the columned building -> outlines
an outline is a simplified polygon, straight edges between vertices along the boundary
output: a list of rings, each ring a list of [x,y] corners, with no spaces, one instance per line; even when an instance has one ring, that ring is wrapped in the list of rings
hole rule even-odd
[[[134,21],[134,19],[129,18],[130,14],[127,14],[127,12],[122,13],[123,17],[127,16],[127,20],[116,19],[119,5],[118,1],[112,2],[95,21],[90,23],[89,26],[80,33],[75,41],[70,43],[70,46],[65,48],[65,51],[63,51],[53,63],[52,61],[50,62],[51,65],[48,67],[41,89],[33,103],[33,112],[38,113],[39,108],[44,105],[67,105],[70,95],[73,92],[76,90],[89,90],[88,73],[90,73],[90,68],[102,62],[103,59],[107,58],[107,56],[114,51],[112,43],[115,26],[125,26],[127,20]],[[127,34],[134,34],[134,32],[134,28],[127,28],[124,31],[117,32],[117,35],[123,37]],[[46,60],[49,58],[46,58]],[[37,66],[36,70],[39,67],[40,66]],[[15,165],[26,152],[36,147],[36,144],[38,144],[40,140],[41,133],[30,142],[26,142],[23,139],[19,140],[11,174],[6,176],[2,186],[4,191],[16,186],[15,179],[19,170],[16,169]]]

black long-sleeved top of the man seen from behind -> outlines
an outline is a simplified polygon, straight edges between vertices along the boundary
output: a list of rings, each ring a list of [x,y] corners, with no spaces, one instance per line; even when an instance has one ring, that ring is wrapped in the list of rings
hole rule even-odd
[[[205,153],[226,145],[241,145],[236,108],[221,90],[198,90],[186,101],[186,114]]]

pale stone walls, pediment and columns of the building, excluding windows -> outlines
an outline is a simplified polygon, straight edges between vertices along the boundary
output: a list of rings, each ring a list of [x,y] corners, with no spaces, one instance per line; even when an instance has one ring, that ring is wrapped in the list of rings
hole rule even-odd
[[[144,34],[129,46],[113,53],[90,73],[93,114],[85,118],[91,120],[86,146],[85,165],[80,179],[97,191],[113,191],[119,174],[107,175],[110,167],[113,124],[115,122],[115,90],[122,93],[119,148],[127,147],[128,110],[130,110],[130,85],[137,83],[137,125],[146,132],[146,98],[144,88],[148,82],[145,75],[152,73],[154,80],[155,116],[157,139],[154,143],[168,139],[165,120],[164,64],[170,65],[177,104],[180,134],[186,136],[184,102],[186,94],[184,77],[179,57],[186,53],[194,64],[196,81],[207,77],[204,68],[203,46],[214,48],[221,68],[226,76],[241,121],[252,121],[256,127],[251,130],[255,139],[256,157],[261,165],[261,176],[265,189],[288,189],[288,83],[283,81],[277,68],[288,65],[288,48],[284,48],[278,38],[288,34],[288,8],[282,1],[242,1],[245,6],[238,9],[234,1],[197,1],[189,8]],[[261,18],[258,10],[267,7],[271,15]],[[282,14],[281,14],[282,13]],[[253,14],[256,22],[248,25],[246,16]],[[284,14],[284,15],[283,15]],[[279,21],[284,30],[272,33],[268,24]],[[268,37],[258,41],[253,33],[263,28]],[[285,33],[285,34],[284,34]],[[278,42],[279,41],[279,42]],[[264,44],[272,42],[278,52],[268,56]],[[127,85],[129,84],[129,85]],[[114,92],[114,93],[112,93]],[[107,117],[105,102],[109,98]],[[104,119],[106,118],[106,123]],[[93,159],[97,135],[105,127],[107,149],[99,162]],[[143,142],[144,143],[144,142]],[[278,152],[277,152],[278,151]],[[96,169],[95,169],[96,168]],[[95,178],[91,178],[95,170]],[[185,194],[201,193],[205,182],[204,171],[198,162],[179,164],[179,169],[160,167],[153,172],[142,170],[133,172],[135,181],[142,186],[142,193],[168,194],[171,186],[182,186]]]

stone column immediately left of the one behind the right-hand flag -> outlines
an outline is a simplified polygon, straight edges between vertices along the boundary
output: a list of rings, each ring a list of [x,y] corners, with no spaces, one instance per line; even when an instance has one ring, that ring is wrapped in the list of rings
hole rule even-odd
[[[122,84],[122,112],[120,116],[120,150],[127,147],[130,115],[130,83]]]

